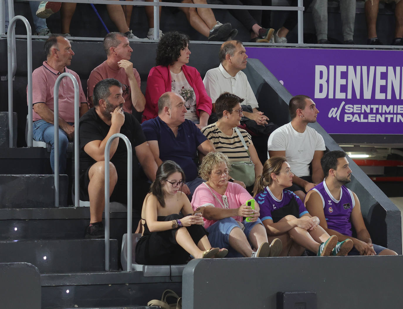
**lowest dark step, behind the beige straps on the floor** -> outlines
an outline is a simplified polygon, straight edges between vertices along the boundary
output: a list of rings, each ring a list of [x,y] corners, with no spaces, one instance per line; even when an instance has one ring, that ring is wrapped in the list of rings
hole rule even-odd
[[[142,271],[41,274],[41,286],[43,309],[143,308],[166,289],[180,296],[182,276],[144,277]]]

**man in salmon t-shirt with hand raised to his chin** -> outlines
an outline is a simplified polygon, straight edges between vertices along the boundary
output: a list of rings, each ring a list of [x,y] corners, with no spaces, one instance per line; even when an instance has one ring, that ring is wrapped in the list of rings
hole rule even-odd
[[[120,32],[108,33],[104,38],[104,50],[107,59],[91,71],[87,81],[87,97],[90,106],[92,106],[93,90],[98,81],[114,78],[122,84],[125,99],[123,111],[131,114],[134,107],[137,112],[142,112],[145,98],[140,90],[140,75],[133,68],[133,63],[129,61],[133,49],[126,35]]]

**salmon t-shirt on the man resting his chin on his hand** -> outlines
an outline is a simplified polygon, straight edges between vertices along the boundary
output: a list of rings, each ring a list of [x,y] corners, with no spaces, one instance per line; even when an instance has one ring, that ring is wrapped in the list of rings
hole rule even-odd
[[[134,77],[136,78],[137,84],[140,87],[140,74],[135,68],[133,68],[133,73]],[[125,69],[119,68],[118,70],[114,70],[106,63],[106,60],[98,65],[98,67],[93,69],[89,74],[89,78],[87,81],[88,98],[93,96],[94,87],[98,83],[98,81],[102,81],[102,79],[105,78],[114,78],[122,83],[123,98],[125,99],[125,104],[123,104],[123,111],[131,114],[131,108],[133,106],[131,102],[131,88]]]

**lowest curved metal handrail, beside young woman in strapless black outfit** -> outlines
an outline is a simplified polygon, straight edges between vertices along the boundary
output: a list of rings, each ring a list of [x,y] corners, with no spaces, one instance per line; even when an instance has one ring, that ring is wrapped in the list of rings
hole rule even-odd
[[[127,148],[127,271],[131,271],[131,232],[132,232],[132,177],[133,177],[133,150],[127,136],[121,133],[113,134],[106,142],[105,146],[105,270],[109,270],[109,159],[110,145],[115,138],[121,138],[125,141]]]

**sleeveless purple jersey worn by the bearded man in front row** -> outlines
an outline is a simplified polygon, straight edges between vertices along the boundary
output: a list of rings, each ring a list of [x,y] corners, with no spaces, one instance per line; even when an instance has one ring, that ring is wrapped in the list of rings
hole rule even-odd
[[[326,182],[321,182],[312,190],[319,193],[322,198],[328,228],[340,234],[352,236],[350,216],[355,206],[353,192],[347,187],[341,186],[340,200],[336,200],[326,186]]]

